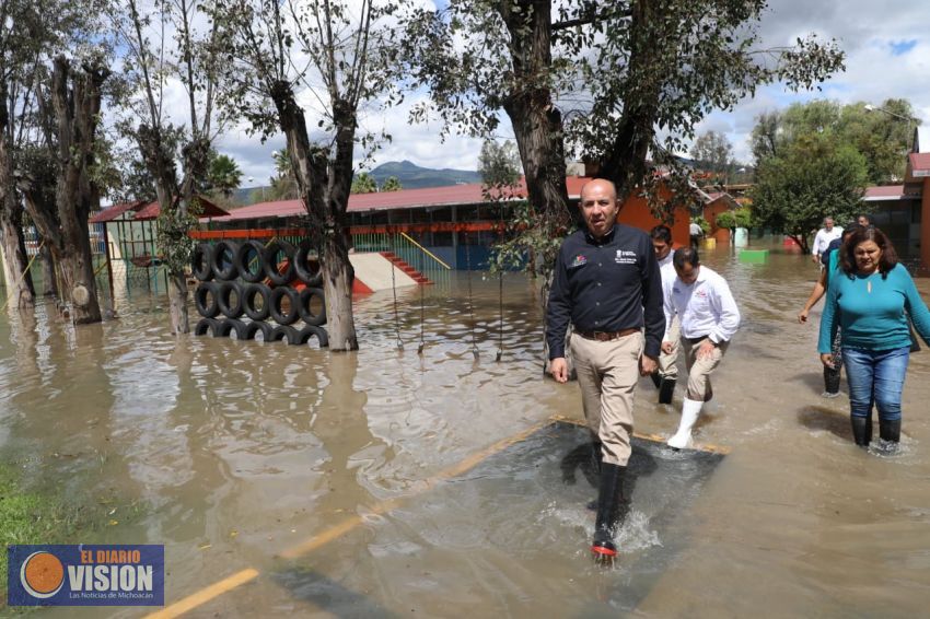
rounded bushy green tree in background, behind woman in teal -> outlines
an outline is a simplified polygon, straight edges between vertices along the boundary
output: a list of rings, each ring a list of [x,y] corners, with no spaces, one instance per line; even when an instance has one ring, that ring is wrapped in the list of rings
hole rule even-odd
[[[824,217],[853,218],[868,184],[865,157],[821,132],[795,136],[763,161],[751,189],[753,219],[783,232],[807,252],[807,237]]]

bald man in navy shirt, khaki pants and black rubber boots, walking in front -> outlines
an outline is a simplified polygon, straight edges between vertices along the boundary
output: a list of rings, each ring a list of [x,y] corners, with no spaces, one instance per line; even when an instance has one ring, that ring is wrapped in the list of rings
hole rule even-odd
[[[580,209],[588,230],[566,238],[559,250],[546,339],[549,372],[565,383],[566,331],[569,322],[574,327],[570,346],[584,418],[602,460],[591,550],[609,560],[617,553],[613,535],[630,457],[633,392],[640,375],[656,370],[665,316],[652,242],[644,232],[616,223],[614,184],[588,183]]]

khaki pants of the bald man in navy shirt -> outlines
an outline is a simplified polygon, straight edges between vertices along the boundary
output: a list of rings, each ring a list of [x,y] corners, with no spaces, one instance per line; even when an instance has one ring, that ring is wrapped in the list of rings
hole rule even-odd
[[[642,346],[641,332],[612,341],[571,336],[584,419],[601,441],[601,452],[608,464],[626,466],[630,458],[633,390],[639,381]]]

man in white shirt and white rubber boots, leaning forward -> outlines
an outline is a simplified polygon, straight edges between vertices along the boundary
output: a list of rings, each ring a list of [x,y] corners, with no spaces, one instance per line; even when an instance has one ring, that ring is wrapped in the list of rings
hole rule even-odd
[[[704,402],[713,397],[710,374],[720,364],[730,339],[740,327],[740,310],[730,287],[719,273],[700,264],[694,247],[675,252],[672,260],[677,277],[663,291],[665,324],[677,315],[682,325],[682,346],[688,370],[688,393],[682,406],[678,431],[669,439],[676,449],[691,442],[691,429]],[[664,285],[664,280],[663,280]],[[662,350],[672,350],[669,334],[662,338]]]

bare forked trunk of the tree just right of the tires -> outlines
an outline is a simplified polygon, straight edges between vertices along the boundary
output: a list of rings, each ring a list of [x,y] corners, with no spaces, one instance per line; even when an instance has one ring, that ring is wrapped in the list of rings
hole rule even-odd
[[[271,92],[278,110],[281,130],[288,140],[291,166],[300,188],[301,197],[311,220],[314,244],[321,248],[319,268],[323,272],[326,296],[327,330],[329,350],[358,350],[356,323],[352,314],[352,280],[354,271],[349,261],[349,242],[342,213],[348,206],[351,185],[351,151],[348,154],[349,176],[345,175],[346,144],[353,142],[354,115],[346,117],[345,109],[335,105],[334,120],[337,125],[337,149],[335,174],[330,185],[326,153],[311,148],[303,109],[294,100],[288,82],[278,82]]]

